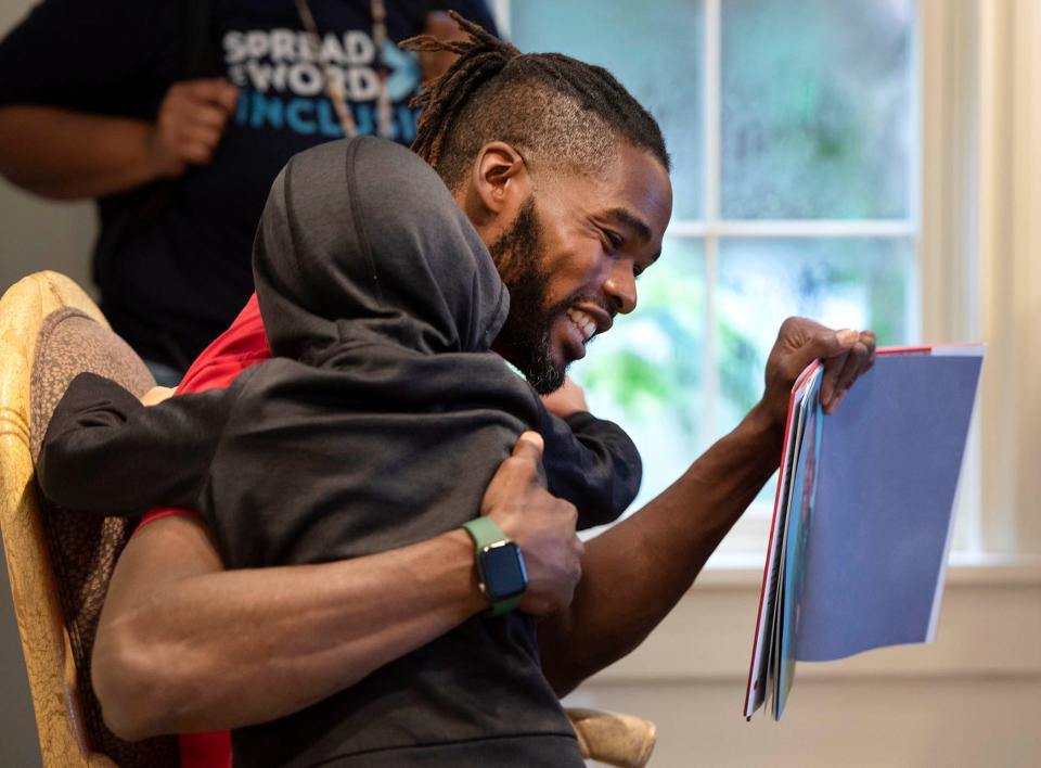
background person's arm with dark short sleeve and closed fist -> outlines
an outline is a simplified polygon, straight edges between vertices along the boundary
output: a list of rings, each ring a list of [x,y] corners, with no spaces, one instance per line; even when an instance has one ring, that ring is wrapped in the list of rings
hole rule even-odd
[[[184,3],[42,0],[0,41],[0,175],[101,197],[205,164],[234,108],[183,77]],[[132,117],[131,117],[132,116]]]

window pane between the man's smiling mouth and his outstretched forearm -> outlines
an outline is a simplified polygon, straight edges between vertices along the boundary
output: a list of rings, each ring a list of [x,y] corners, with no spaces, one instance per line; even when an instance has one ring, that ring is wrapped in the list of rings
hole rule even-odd
[[[701,242],[666,240],[638,289],[637,311],[618,316],[570,371],[592,412],[621,424],[640,448],[643,486],[632,509],[674,482],[704,448]]]

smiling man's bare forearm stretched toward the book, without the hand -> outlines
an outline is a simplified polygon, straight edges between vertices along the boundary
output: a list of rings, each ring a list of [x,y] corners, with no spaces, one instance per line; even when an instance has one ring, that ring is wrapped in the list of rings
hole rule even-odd
[[[587,542],[570,609],[539,625],[543,669],[558,693],[625,656],[665,618],[776,469],[782,439],[757,407],[657,498]]]

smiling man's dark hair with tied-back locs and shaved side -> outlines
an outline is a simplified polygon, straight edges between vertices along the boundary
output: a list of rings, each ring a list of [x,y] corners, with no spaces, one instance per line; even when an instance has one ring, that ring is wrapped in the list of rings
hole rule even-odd
[[[412,149],[449,189],[459,187],[489,141],[517,148],[529,164],[596,171],[621,139],[670,168],[658,124],[609,72],[561,53],[520,53],[454,11],[449,15],[467,40],[421,35],[401,43],[459,54],[412,100],[423,107]]]

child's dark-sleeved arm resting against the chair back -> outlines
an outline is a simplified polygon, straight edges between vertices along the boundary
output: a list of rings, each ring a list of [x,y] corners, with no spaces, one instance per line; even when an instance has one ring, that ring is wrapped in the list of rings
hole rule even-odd
[[[36,465],[43,494],[62,507],[104,514],[196,509],[231,406],[229,392],[146,408],[118,384],[79,374],[43,437]]]

